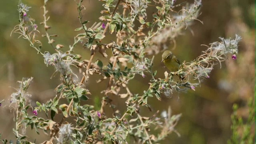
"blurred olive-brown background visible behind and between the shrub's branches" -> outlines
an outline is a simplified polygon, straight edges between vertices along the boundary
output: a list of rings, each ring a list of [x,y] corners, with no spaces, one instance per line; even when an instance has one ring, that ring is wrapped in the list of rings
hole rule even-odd
[[[183,0],[177,0],[177,3]],[[188,0],[188,2],[193,2]],[[36,20],[38,30],[43,34],[43,0],[23,0],[23,3],[31,6],[28,15]],[[0,132],[2,138],[15,139],[12,134],[14,128],[13,114],[8,107],[8,98],[18,86],[17,80],[22,77],[34,77],[34,81],[29,88],[32,94],[32,105],[35,102],[46,102],[53,98],[54,88],[60,84],[58,75],[50,79],[54,72],[53,67],[47,67],[41,55],[37,55],[28,42],[22,38],[18,39],[17,34],[10,36],[14,26],[18,24],[17,12],[18,0],[0,1],[0,100],[5,99],[0,108]],[[173,50],[174,54],[186,62],[194,60],[206,50],[201,44],[210,44],[219,41],[218,37],[234,38],[235,34],[242,36],[242,42],[239,43],[239,54],[237,60],[228,60],[214,67],[210,78],[204,80],[196,91],[189,90],[186,93],[173,94],[171,98],[162,95],[162,101],[156,98],[150,99],[153,112],[147,108],[142,108],[142,115],[152,116],[156,110],[167,110],[168,106],[172,108],[172,114],[182,113],[182,118],[176,126],[176,130],[181,134],[178,137],[175,133],[171,134],[163,144],[225,144],[231,136],[232,104],[237,103],[240,106],[238,114],[246,119],[248,108],[246,102],[254,97],[255,85],[255,1],[254,0],[202,0],[202,14],[199,16],[204,24],[195,21],[194,24],[184,30],[183,35],[176,39],[177,48]],[[84,0],[86,10],[84,20],[89,20],[88,26],[94,22],[99,22],[102,3],[98,0]],[[52,28],[48,31],[50,34],[58,34],[55,38],[58,44],[68,50],[68,46],[74,41],[77,32],[75,28],[80,27],[77,18],[76,3],[73,0],[49,0],[48,10],[50,20],[48,25]],[[148,13],[149,15],[149,13]],[[192,32],[191,32],[192,31]],[[38,39],[43,42],[43,51],[54,52],[46,38],[38,34]],[[107,36],[108,37],[108,36]],[[111,36],[106,38],[110,42]],[[56,43],[56,44],[57,44]],[[173,44],[170,45],[170,48]],[[64,51],[63,50],[63,51]],[[82,49],[78,45],[75,49],[76,54],[81,54],[83,59],[90,58],[90,52]],[[111,52],[108,51],[108,55]],[[164,65],[161,64],[160,56],[156,55],[154,69],[158,70],[159,75],[163,75]],[[107,62],[108,59],[102,58]],[[96,58],[94,60],[96,60]],[[92,95],[88,104],[95,104],[100,101],[102,94],[100,91],[106,88],[106,83],[96,84],[97,76],[92,76],[87,84],[87,88]],[[133,93],[142,94],[143,90],[148,88],[150,77],[142,78],[136,76],[130,82],[130,90]],[[121,98],[112,98],[121,111],[126,110],[124,100]],[[111,109],[106,108],[106,112],[111,114]],[[44,114],[39,114],[43,116]],[[252,130],[254,132],[254,128]],[[31,140],[43,142],[48,136],[36,135],[34,131],[28,130]]]

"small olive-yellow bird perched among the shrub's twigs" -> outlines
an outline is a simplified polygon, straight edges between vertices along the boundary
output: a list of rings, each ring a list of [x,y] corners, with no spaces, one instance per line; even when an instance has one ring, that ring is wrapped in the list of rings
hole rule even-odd
[[[164,62],[164,65],[168,70],[171,72],[177,72],[180,67],[180,61],[176,56],[172,54],[170,50],[166,50],[162,54],[162,62]]]

